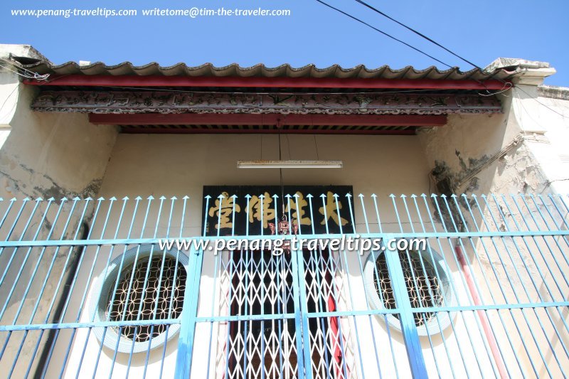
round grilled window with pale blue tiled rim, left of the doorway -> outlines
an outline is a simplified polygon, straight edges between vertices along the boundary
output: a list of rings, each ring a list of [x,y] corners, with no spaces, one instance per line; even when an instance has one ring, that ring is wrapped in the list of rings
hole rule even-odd
[[[107,274],[97,283],[98,293],[92,301],[95,322],[179,318],[187,265],[188,257],[176,249],[164,252],[157,247],[153,250],[152,245],[142,245],[128,250],[110,263]],[[115,326],[106,332],[104,328],[96,328],[95,335],[113,351],[118,341],[119,352],[138,353],[161,346],[178,331],[179,324],[171,324],[169,328],[164,324]]]

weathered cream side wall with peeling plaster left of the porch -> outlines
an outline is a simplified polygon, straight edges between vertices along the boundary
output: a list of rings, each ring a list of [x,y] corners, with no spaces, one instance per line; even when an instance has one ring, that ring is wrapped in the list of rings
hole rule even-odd
[[[52,235],[60,238],[73,237],[80,228],[76,215],[63,230],[65,220],[59,220],[58,210],[63,214],[73,206],[71,198],[95,196],[105,174],[110,152],[115,144],[117,128],[92,125],[86,114],[43,114],[29,108],[36,88],[21,84],[20,78],[6,71],[0,71],[0,209],[2,214],[11,206],[11,198],[18,199],[14,209],[4,220],[6,228],[15,225],[11,235],[2,238],[18,240],[25,238],[41,240]],[[31,198],[21,203],[23,198]],[[36,198],[43,200],[36,201]],[[48,199],[52,200],[48,200]],[[68,201],[60,202],[62,198]],[[16,214],[23,206],[18,222]],[[37,205],[37,206],[36,206]],[[82,204],[77,204],[80,207]],[[90,218],[88,209],[85,220]],[[26,222],[28,227],[26,228]],[[55,228],[53,227],[53,225]],[[81,233],[81,232],[80,232]],[[80,233],[78,234],[80,237]],[[2,323],[26,324],[31,317],[36,321],[51,321],[54,309],[48,315],[48,308],[54,299],[55,287],[63,275],[70,272],[78,250],[68,248],[2,249],[0,254],[0,302],[6,304],[2,310]],[[68,257],[73,255],[70,260]],[[45,279],[45,281],[44,281]],[[26,289],[27,284],[31,286]],[[59,292],[62,294],[63,292]],[[24,306],[20,310],[20,306]],[[33,309],[36,308],[34,313]],[[29,333],[19,353],[19,361],[30,362],[36,355],[34,348],[39,333]],[[45,343],[48,332],[43,333]],[[1,336],[4,344],[6,333]],[[23,341],[21,333],[11,336],[4,359],[12,361]],[[41,350],[39,351],[41,353]],[[36,356],[37,358],[37,356]],[[31,366],[33,374],[36,364]],[[26,363],[27,368],[27,363]],[[18,366],[18,370],[24,370]],[[22,375],[23,375],[22,373]],[[5,375],[3,373],[1,375]]]

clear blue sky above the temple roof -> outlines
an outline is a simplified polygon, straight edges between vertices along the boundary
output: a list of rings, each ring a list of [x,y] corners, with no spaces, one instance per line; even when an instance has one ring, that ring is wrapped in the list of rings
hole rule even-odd
[[[356,1],[326,0],[383,31],[417,46],[449,65],[472,66],[422,40]],[[549,85],[569,86],[566,18],[569,1],[378,1],[381,11],[416,28],[459,55],[484,67],[498,57],[543,60],[558,73]],[[139,16],[16,17],[11,9],[137,9]],[[292,15],[273,17],[144,17],[142,9],[290,9]],[[437,63],[382,36],[314,0],[3,0],[0,5],[0,43],[31,44],[54,63],[68,60],[137,65],[185,62],[200,65],[239,63],[243,66],[290,63],[319,67],[360,63],[375,68]]]

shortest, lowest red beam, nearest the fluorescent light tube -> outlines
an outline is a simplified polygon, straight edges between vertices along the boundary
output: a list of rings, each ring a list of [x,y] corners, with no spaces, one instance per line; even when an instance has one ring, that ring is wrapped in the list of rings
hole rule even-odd
[[[341,130],[341,129],[210,129],[210,128],[150,128],[122,127],[127,134],[381,134],[412,136],[415,129],[403,130]]]

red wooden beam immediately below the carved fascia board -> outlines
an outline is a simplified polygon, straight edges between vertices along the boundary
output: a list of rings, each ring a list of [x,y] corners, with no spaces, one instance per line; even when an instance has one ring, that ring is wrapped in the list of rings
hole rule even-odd
[[[110,125],[357,125],[365,127],[442,127],[447,116],[377,114],[89,114],[92,124]]]

